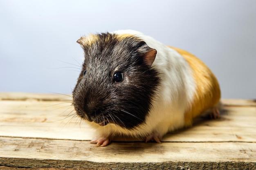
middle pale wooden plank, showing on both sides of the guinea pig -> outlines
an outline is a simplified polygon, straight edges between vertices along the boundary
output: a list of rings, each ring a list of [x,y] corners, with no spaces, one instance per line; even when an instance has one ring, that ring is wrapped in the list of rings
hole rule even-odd
[[[0,136],[73,140],[94,137],[94,130],[76,115],[73,117],[75,113],[70,103],[4,100],[0,101],[0,107]],[[191,128],[166,135],[163,141],[255,141],[256,107],[228,109],[220,119],[202,118]]]

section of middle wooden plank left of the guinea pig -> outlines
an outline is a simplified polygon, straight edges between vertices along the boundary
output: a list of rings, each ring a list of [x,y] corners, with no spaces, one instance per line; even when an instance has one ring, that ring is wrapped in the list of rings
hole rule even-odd
[[[90,140],[94,136],[94,130],[76,115],[73,118],[70,103],[3,100],[0,108],[0,136],[75,140]]]

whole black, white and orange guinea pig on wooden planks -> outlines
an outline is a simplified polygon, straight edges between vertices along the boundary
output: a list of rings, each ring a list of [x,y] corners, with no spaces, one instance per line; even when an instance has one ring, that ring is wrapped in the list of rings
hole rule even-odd
[[[84,62],[72,104],[98,132],[91,143],[107,146],[117,136],[161,143],[167,132],[191,126],[198,115],[219,114],[218,81],[191,53],[132,30],[77,42]]]

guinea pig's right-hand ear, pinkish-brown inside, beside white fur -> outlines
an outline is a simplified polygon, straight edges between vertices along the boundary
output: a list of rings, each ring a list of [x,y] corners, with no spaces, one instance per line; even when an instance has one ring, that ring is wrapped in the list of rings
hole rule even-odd
[[[143,60],[145,64],[151,66],[155,61],[155,56],[157,55],[157,50],[150,48],[146,42],[141,42],[138,48],[138,52],[142,53]]]

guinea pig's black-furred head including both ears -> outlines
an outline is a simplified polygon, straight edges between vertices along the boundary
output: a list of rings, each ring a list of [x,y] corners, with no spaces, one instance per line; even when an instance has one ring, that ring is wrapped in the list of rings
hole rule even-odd
[[[76,113],[99,126],[143,123],[159,84],[151,67],[156,50],[132,35],[102,33],[77,42],[85,60],[73,91]]]

